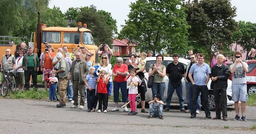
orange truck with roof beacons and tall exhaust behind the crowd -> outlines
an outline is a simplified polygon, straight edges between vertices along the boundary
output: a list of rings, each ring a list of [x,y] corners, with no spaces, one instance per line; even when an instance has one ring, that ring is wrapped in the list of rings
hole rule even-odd
[[[47,27],[46,24],[40,23],[40,13],[38,12],[37,33],[34,33],[34,53],[38,56],[44,52],[44,44],[47,42],[51,45],[55,52],[59,47],[68,46],[68,52],[71,53],[72,48],[86,47],[92,52],[92,65],[98,65],[98,54],[95,53],[97,46],[93,41],[92,31],[87,29],[87,25],[79,22],[77,27]],[[32,37],[31,37],[32,39]]]

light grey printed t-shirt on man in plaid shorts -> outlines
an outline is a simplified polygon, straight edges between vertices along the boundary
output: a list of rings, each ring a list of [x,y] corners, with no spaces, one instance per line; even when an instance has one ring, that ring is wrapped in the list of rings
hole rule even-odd
[[[247,63],[243,62],[243,64],[245,65],[245,67],[248,68]],[[230,65],[230,70],[234,65],[235,63]],[[243,69],[242,64],[239,64],[239,65],[236,65],[236,70],[233,73],[232,84],[243,84],[243,83],[246,83],[245,71]]]

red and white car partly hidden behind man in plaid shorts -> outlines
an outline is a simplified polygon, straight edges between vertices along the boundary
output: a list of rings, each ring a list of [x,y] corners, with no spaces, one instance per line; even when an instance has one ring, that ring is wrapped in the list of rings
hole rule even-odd
[[[248,64],[248,72],[246,73],[247,93],[256,94],[256,60],[245,60]],[[229,79],[232,80],[233,74],[230,74]]]

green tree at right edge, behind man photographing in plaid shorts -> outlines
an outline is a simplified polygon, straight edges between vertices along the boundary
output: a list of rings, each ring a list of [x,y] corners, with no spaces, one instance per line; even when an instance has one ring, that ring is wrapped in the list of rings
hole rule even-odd
[[[255,48],[256,45],[256,23],[239,21],[238,26],[239,30],[235,32],[236,36],[234,39],[243,48],[241,52],[246,52],[248,56],[251,48]]]

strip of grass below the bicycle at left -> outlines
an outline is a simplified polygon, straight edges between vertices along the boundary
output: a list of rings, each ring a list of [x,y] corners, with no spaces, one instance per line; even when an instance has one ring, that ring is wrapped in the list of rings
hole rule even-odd
[[[3,98],[3,97],[2,97]],[[8,92],[7,96],[5,97],[7,99],[48,99],[49,98],[49,92],[42,89],[42,90],[28,90],[28,91],[16,91],[14,93]]]

